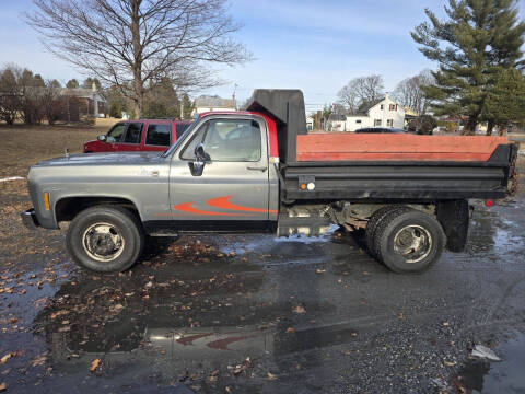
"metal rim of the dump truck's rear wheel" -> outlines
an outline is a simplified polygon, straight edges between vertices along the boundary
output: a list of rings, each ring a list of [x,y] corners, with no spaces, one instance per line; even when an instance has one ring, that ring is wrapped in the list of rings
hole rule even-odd
[[[421,225],[404,227],[394,236],[394,252],[405,258],[405,263],[419,263],[432,250],[432,235]]]

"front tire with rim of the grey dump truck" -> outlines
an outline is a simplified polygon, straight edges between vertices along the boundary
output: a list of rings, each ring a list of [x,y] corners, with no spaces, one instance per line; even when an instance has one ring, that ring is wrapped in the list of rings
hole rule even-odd
[[[73,260],[96,273],[130,268],[144,247],[142,225],[122,207],[98,206],[81,211],[69,225],[66,244]]]

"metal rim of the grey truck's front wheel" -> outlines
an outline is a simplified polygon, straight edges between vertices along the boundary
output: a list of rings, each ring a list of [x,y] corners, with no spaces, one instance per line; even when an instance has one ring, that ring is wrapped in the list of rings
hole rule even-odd
[[[84,231],[82,246],[94,260],[107,263],[122,254],[125,240],[115,225],[94,223]]]

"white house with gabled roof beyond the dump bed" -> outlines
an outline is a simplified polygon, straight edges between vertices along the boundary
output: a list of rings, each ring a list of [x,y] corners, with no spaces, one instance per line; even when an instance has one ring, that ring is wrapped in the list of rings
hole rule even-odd
[[[338,115],[334,121],[328,121],[329,131],[355,131],[363,127],[393,127],[405,126],[405,108],[396,103],[388,94],[383,99],[360,108],[353,115]]]

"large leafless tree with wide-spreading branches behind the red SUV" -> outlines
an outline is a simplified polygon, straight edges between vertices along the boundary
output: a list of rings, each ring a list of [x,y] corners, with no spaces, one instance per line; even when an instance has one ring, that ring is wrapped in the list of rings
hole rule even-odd
[[[33,0],[25,20],[52,54],[106,85],[141,116],[150,81],[177,88],[217,84],[210,63],[250,59],[231,38],[240,28],[225,0]],[[154,85],[155,83],[153,83]]]

